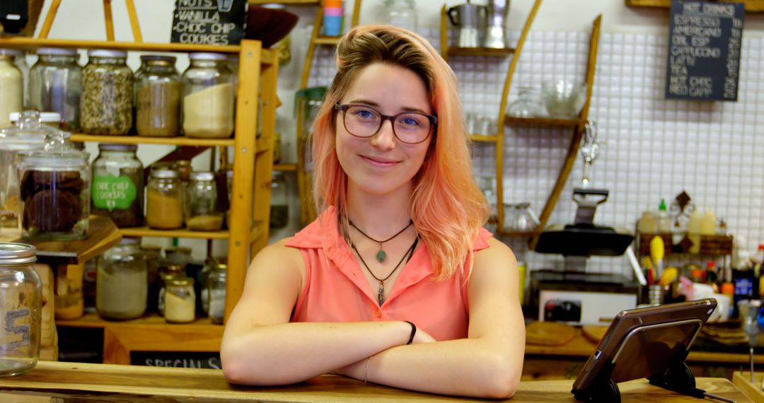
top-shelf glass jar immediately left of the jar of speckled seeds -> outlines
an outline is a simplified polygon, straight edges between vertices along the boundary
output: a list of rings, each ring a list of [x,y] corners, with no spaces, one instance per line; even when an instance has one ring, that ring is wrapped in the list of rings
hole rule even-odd
[[[29,73],[29,105],[37,111],[57,112],[66,131],[79,130],[79,102],[83,68],[76,49],[41,47]]]

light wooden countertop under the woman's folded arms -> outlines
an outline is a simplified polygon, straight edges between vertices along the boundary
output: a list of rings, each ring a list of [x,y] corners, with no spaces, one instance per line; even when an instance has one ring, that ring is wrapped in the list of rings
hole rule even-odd
[[[574,401],[572,380],[521,382],[511,401]],[[750,401],[732,382],[699,378],[707,392]],[[688,401],[646,380],[620,384],[622,401]],[[151,366],[57,363],[41,361],[20,376],[0,378],[0,392],[55,398],[99,398],[108,401],[460,401],[380,385],[364,385],[342,376],[319,376],[308,382],[280,387],[241,387],[225,381],[217,369],[176,369]],[[474,401],[475,399],[469,399]],[[36,401],[36,400],[35,400]],[[495,400],[490,400],[495,401]]]

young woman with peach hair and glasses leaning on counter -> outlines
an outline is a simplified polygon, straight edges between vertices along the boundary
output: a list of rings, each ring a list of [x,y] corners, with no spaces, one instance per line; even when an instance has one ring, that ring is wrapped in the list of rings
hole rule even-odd
[[[452,70],[390,26],[342,38],[313,124],[319,218],[258,253],[225,327],[228,381],[325,373],[507,398],[525,327],[513,253],[482,228]]]

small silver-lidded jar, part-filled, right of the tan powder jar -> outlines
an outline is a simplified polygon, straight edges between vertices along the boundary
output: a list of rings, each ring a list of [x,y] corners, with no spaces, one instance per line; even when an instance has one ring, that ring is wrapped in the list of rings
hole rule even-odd
[[[212,172],[191,172],[187,193],[186,227],[191,231],[218,231],[223,214],[216,210],[218,190]]]

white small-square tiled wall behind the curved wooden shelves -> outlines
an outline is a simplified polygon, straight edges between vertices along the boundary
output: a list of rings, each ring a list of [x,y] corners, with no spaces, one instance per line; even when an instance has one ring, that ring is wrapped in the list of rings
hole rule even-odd
[[[436,48],[435,29],[422,30]],[[519,32],[510,36],[512,42]],[[582,80],[588,53],[588,33],[532,31],[510,91],[545,79]],[[602,34],[590,117],[604,141],[591,169],[592,185],[610,189],[597,209],[597,224],[634,229],[645,208],[656,209],[661,198],[672,202],[682,190],[699,208],[713,208],[735,236],[755,249],[764,243],[762,189],[764,138],[758,115],[764,113],[764,38],[743,39],[738,102],[666,100],[666,37],[643,34]],[[488,111],[497,116],[501,85],[509,58],[453,57],[465,113]],[[335,72],[333,49],[321,47],[312,66],[310,85],[328,85]],[[539,212],[557,179],[570,143],[571,130],[508,126],[505,137],[504,201],[531,202]],[[478,176],[492,176],[495,150],[476,144]],[[550,223],[569,223],[575,214],[572,189],[581,179],[576,161]],[[559,267],[562,256],[528,252],[526,240],[505,240],[530,269]],[[679,260],[677,263],[682,263]],[[704,263],[698,260],[697,263]],[[623,257],[592,257],[590,272],[630,269]]]

